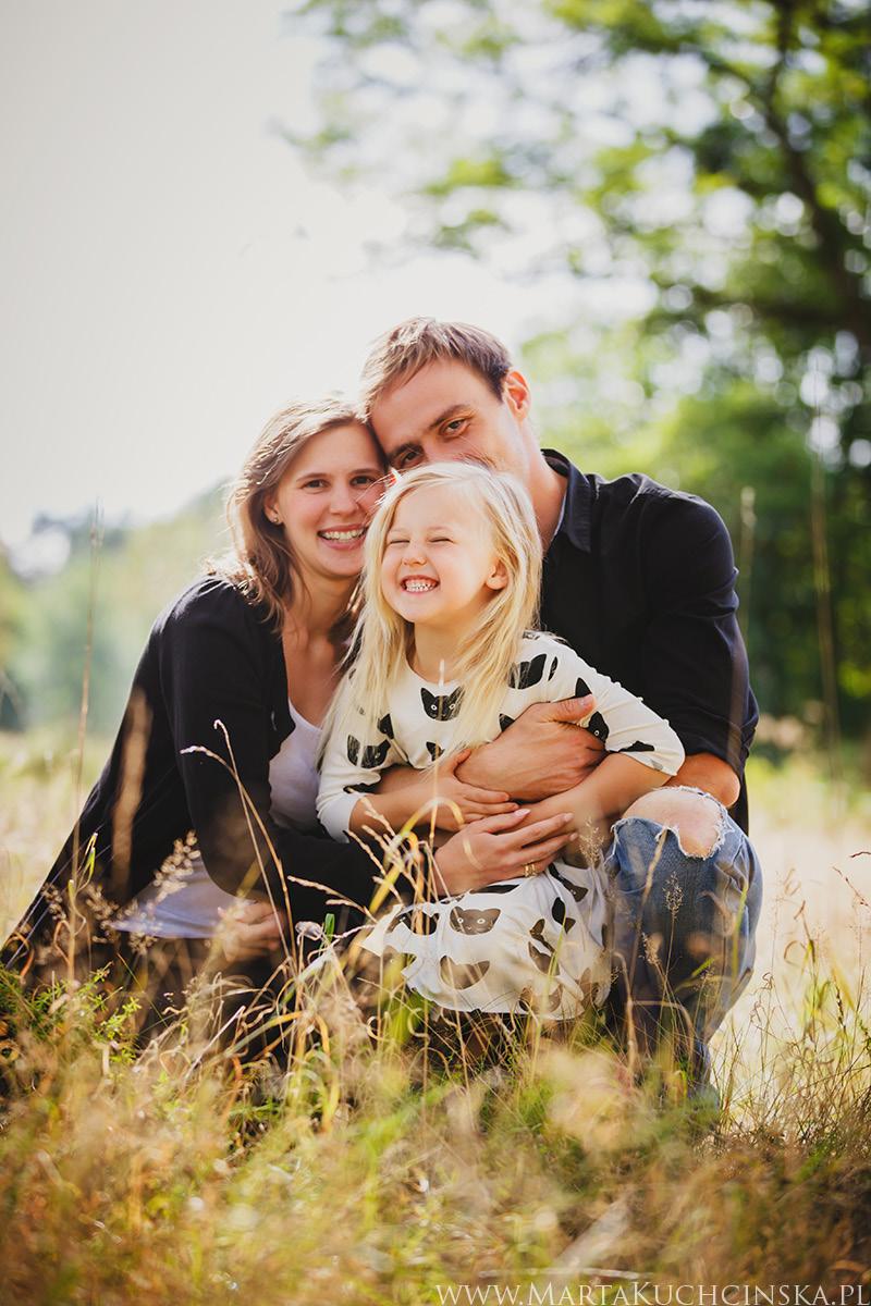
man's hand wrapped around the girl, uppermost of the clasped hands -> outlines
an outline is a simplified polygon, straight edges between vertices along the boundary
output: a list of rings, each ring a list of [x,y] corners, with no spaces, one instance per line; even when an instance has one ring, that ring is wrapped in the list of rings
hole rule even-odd
[[[595,709],[593,695],[533,703],[492,743],[475,748],[457,768],[465,784],[507,790],[533,802],[573,789],[598,767],[605,744],[578,727]]]

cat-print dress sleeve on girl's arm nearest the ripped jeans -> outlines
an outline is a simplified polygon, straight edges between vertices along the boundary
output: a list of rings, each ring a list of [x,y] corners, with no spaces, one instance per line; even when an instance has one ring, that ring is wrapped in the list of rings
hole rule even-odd
[[[678,773],[684,760],[680,739],[669,722],[635,693],[602,675],[568,644],[552,636],[524,640],[524,661],[516,669],[516,682],[529,679],[530,673],[524,671],[526,658],[531,666],[535,658],[542,660],[538,683],[545,692],[538,701],[556,703],[592,693],[595,708],[580,725],[601,739],[607,752],[623,752],[669,776]]]

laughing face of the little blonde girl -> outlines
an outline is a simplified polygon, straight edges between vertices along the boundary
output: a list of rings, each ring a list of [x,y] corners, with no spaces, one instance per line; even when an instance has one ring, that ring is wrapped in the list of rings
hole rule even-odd
[[[508,584],[482,512],[447,486],[400,500],[387,534],[381,593],[413,626],[462,635]]]

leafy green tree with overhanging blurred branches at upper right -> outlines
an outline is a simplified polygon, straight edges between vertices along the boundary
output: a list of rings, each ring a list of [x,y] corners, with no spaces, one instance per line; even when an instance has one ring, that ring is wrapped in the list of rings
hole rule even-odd
[[[791,487],[803,547],[773,550],[752,616],[759,658],[768,649],[776,666],[789,632],[802,670],[772,674],[764,697],[797,710],[821,696],[812,615],[831,582],[841,707],[858,721],[871,690],[871,614],[857,601],[871,563],[867,4],[307,0],[294,21],[330,55],[320,129],[290,138],[350,184],[377,170],[406,197],[410,242],[525,274],[560,266],[615,298],[645,287],[642,312],[599,328],[623,336],[616,431],[644,428],[656,473],[678,452],[692,464],[692,440],[675,434],[691,418],[708,469],[696,458],[682,483],[735,522],[742,486],[770,478],[760,538],[782,522],[768,517],[778,483]],[[578,363],[560,325],[530,351],[545,374],[554,358]],[[593,394],[589,368],[588,381]],[[582,424],[606,443],[593,406]]]

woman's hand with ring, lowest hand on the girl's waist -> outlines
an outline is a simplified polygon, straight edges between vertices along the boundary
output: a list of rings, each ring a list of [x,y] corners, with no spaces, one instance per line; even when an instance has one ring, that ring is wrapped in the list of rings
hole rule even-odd
[[[486,816],[460,831],[435,854],[439,889],[465,893],[511,880],[525,871],[539,874],[572,835],[571,812],[521,827],[528,808]]]

